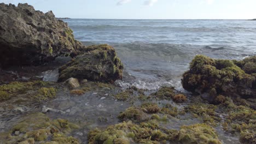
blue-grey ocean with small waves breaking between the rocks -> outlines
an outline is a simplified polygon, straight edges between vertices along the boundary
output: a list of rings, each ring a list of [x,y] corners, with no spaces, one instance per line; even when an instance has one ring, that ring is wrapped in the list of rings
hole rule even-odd
[[[112,45],[124,63],[121,87],[174,86],[196,55],[242,59],[256,55],[256,21],[65,19],[85,45]]]

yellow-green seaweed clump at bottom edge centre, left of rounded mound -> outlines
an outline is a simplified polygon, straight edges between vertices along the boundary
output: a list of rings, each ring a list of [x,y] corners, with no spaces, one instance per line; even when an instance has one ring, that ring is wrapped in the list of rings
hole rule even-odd
[[[111,125],[104,130],[94,129],[88,134],[89,143],[165,143],[167,135],[159,129],[137,125],[131,121]]]

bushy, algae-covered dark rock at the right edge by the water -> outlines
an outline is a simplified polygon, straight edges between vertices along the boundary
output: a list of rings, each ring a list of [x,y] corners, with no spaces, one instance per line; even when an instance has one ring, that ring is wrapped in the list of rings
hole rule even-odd
[[[190,92],[207,93],[211,102],[219,94],[255,99],[256,56],[229,61],[197,55],[183,74],[182,85]]]

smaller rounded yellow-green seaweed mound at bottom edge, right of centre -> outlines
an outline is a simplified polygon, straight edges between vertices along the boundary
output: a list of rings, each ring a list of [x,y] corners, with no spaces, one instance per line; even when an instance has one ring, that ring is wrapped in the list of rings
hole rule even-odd
[[[221,144],[216,131],[207,124],[183,125],[179,131],[171,131],[170,141],[179,143]]]

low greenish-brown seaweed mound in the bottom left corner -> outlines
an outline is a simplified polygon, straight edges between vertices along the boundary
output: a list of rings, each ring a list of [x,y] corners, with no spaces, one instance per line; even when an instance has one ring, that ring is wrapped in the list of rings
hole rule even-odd
[[[0,133],[0,139],[3,143],[80,143],[72,136],[67,136],[77,128],[77,125],[66,119],[51,120],[43,113],[33,113],[22,118],[8,132]]]

